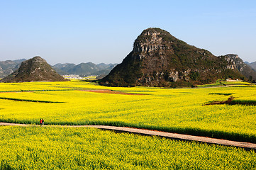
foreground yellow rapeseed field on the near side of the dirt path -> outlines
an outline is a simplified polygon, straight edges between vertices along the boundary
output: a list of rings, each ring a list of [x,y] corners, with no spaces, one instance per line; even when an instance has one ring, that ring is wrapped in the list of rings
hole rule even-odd
[[[0,127],[0,169],[256,169],[255,151],[94,128]]]

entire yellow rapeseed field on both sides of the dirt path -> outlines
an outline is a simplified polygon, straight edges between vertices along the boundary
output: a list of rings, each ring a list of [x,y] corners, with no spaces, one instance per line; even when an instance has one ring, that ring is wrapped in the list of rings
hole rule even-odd
[[[39,124],[44,118],[46,125],[119,125],[255,142],[256,86],[230,85],[0,84],[0,121]],[[234,105],[204,105],[230,96]],[[0,169],[256,169],[254,150],[94,128],[0,127],[0,138]]]

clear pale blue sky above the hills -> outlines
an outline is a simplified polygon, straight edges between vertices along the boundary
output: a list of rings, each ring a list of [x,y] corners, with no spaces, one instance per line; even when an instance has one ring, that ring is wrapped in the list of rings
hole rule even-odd
[[[150,27],[256,61],[256,1],[0,0],[0,60],[120,63]]]

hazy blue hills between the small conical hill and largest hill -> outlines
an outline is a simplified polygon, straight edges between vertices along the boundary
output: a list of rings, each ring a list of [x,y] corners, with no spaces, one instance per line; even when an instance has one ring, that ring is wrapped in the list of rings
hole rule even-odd
[[[94,64],[92,62],[80,63],[80,64],[55,64],[52,68],[56,70],[57,73],[64,74],[78,74],[81,76],[89,75],[107,75],[116,64]]]

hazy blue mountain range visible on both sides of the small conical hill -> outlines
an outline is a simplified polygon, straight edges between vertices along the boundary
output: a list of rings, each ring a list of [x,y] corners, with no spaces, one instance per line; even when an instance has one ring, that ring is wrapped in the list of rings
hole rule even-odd
[[[26,59],[21,60],[6,60],[0,62],[0,78],[4,78],[8,76],[9,74],[12,74],[15,72],[18,67],[20,67],[21,62],[26,61]],[[81,63],[81,64],[72,64],[72,63],[65,63],[65,64],[55,64],[52,66],[52,69],[55,69],[55,71],[60,75],[65,74],[78,74],[83,77],[89,76],[89,75],[95,75],[95,76],[106,76],[113,67],[115,67],[117,64],[94,64],[92,62],[87,63]]]

